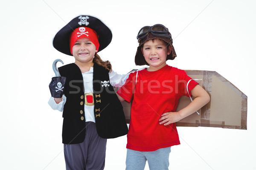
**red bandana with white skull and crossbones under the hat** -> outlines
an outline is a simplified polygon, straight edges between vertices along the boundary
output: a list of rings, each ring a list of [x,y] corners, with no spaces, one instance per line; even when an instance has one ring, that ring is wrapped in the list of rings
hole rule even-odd
[[[99,50],[99,40],[97,33],[88,27],[76,28],[70,35],[70,52],[73,55],[72,48],[79,38],[89,38],[91,42],[96,46],[96,50]]]

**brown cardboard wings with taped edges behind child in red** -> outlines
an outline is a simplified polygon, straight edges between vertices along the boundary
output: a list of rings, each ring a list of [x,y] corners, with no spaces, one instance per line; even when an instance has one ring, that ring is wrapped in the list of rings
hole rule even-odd
[[[193,113],[176,122],[176,126],[247,129],[247,96],[245,94],[216,71],[185,71],[192,79],[202,79],[197,82],[207,91],[211,100],[198,111],[199,115]],[[186,107],[190,102],[189,97],[182,96],[176,111]],[[122,102],[122,105],[126,122],[129,123],[131,103]]]

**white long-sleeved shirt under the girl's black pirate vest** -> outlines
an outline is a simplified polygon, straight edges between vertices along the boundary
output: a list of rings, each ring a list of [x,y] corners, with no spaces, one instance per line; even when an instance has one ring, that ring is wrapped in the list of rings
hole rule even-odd
[[[93,67],[90,68],[89,71],[82,73],[83,81],[84,81],[84,93],[93,93]],[[126,79],[129,74],[117,74],[115,71],[111,71],[109,73],[110,84],[114,87],[120,88],[125,84]],[[62,101],[58,104],[54,101],[53,97],[50,97],[48,104],[51,106],[53,110],[63,111],[64,104],[66,103],[67,97],[65,95],[62,96]],[[84,116],[86,122],[95,122],[94,118],[94,105],[87,106],[84,105]]]

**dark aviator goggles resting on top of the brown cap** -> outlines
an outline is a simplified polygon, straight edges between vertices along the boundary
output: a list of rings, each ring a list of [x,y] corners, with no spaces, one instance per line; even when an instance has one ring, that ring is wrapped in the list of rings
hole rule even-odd
[[[146,37],[148,32],[151,32],[151,34],[154,36],[166,37],[172,41],[172,35],[169,33],[168,28],[166,28],[162,24],[156,24],[154,26],[145,26],[141,28],[137,35],[138,42]]]

